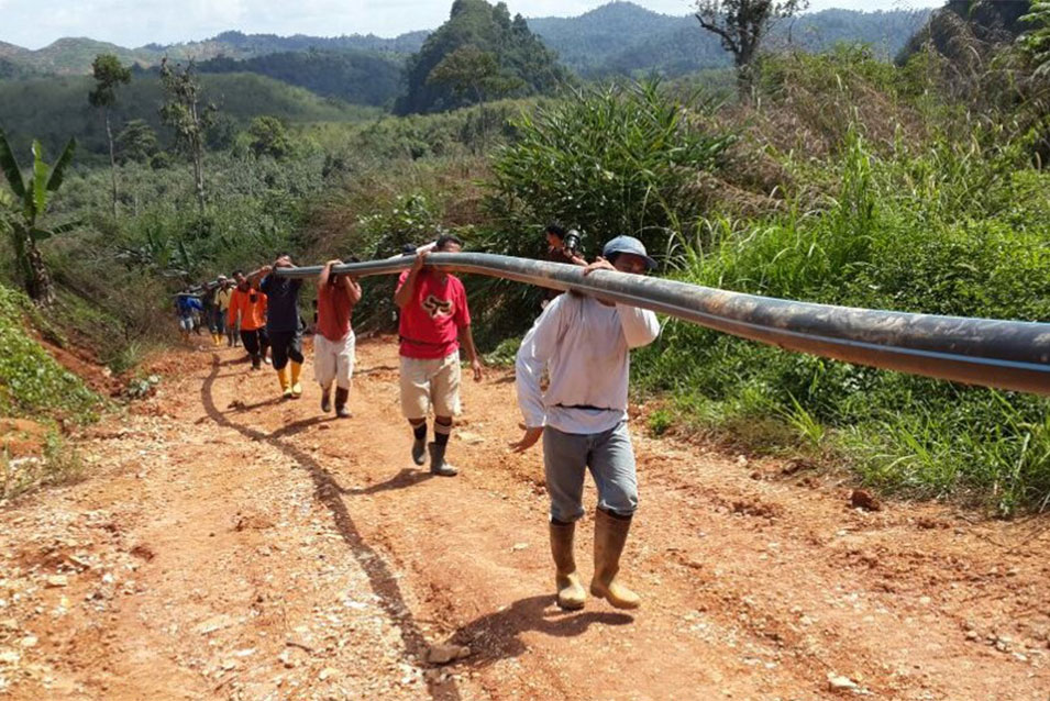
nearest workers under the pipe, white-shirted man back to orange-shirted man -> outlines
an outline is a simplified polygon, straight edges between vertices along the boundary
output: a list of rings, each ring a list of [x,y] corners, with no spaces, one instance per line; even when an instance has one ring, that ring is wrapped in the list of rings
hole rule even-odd
[[[575,232],[552,224],[545,235],[546,258],[581,266],[585,276],[597,270],[642,275],[656,266],[644,245],[631,236],[612,238],[601,256],[588,264],[577,251]],[[446,234],[415,252],[412,266],[400,275],[394,296],[399,310],[400,404],[412,432],[411,458],[422,466],[429,457],[430,472],[443,477],[458,471],[445,454],[460,413],[460,346],[475,381],[483,379],[484,368],[471,332],[463,282],[447,268],[428,265],[427,258],[431,251],[458,253],[462,246],[461,240]],[[351,315],[362,289],[352,276],[333,270],[339,265],[340,260],[329,260],[316,280],[313,365],[322,411],[331,411],[334,383],[335,411],[349,416],[355,345]],[[253,367],[258,367],[258,348],[268,340],[283,396],[298,398],[302,393],[303,324],[298,303],[302,279],[274,274],[284,267],[294,267],[288,255],[247,276],[237,274],[226,321],[240,322]],[[252,326],[254,335],[251,330],[245,335]],[[518,350],[516,387],[524,433],[510,447],[522,453],[542,439],[556,601],[563,609],[581,609],[586,600],[576,571],[574,536],[575,524],[585,514],[583,487],[588,469],[598,491],[590,593],[616,608],[640,604],[638,594],[619,577],[638,508],[634,453],[627,429],[628,375],[630,349],[652,343],[659,332],[651,311],[575,291],[555,292],[543,300],[542,313]],[[430,414],[433,441],[428,443]]]

